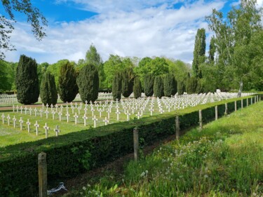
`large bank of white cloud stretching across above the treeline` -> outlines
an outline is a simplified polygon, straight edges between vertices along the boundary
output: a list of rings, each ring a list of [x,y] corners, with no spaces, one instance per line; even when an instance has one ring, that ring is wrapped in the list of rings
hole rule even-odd
[[[117,54],[136,57],[165,55],[191,62],[196,31],[201,27],[207,29],[203,21],[205,15],[210,15],[212,8],[221,9],[224,6],[222,1],[194,1],[174,9],[170,8],[172,1],[162,4],[161,0],[151,3],[144,0],[144,4],[135,1],[133,11],[126,11],[121,7],[128,6],[128,1],[117,2],[121,4],[119,11],[109,10],[83,21],[62,22],[48,27],[48,37],[41,42],[29,34],[28,25],[19,23],[11,39],[18,49],[16,60],[13,60],[14,55],[9,55],[11,52],[7,53],[6,60],[18,61],[19,55],[25,54],[32,55],[38,62],[78,61],[84,58],[93,43],[104,61],[109,54]],[[100,7],[103,3],[104,8]],[[92,4],[90,8],[100,7],[103,11],[111,3],[117,4],[115,1],[93,0],[85,6]]]

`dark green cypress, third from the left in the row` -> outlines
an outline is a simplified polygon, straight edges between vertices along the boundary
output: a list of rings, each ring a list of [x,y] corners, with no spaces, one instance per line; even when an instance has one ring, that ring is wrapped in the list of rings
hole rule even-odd
[[[69,61],[60,67],[58,76],[58,94],[63,102],[72,102],[79,88],[76,84],[76,71],[74,65]]]

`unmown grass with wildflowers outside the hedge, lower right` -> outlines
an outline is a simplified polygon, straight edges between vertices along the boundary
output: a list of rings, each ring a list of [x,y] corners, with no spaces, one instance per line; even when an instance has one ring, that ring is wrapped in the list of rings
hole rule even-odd
[[[261,197],[262,120],[263,102],[238,110],[130,161],[123,175],[89,182],[78,195]]]

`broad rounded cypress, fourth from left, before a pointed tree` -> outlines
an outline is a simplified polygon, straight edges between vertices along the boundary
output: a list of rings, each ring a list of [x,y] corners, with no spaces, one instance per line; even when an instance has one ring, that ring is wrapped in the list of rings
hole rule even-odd
[[[99,95],[100,79],[97,68],[93,64],[85,64],[76,79],[82,102],[94,102]]]

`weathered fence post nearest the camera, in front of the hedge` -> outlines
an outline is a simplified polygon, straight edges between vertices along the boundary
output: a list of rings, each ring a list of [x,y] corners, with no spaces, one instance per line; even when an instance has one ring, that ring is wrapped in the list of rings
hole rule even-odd
[[[38,156],[39,163],[39,197],[48,196],[48,176],[46,167],[46,154],[40,153]]]

